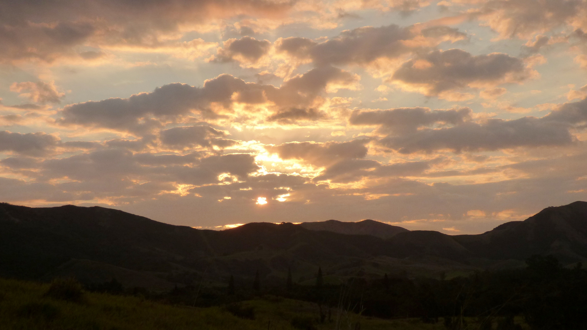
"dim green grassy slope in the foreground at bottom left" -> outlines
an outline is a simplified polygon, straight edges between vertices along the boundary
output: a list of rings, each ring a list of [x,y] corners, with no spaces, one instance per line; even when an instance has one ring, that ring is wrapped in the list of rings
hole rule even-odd
[[[235,312],[234,306],[194,308],[95,292],[59,297],[48,294],[49,287],[0,279],[0,329],[444,329],[440,322],[423,324],[417,319],[339,316],[334,308],[320,323],[318,305],[278,297],[241,302]],[[251,308],[254,316],[247,315]],[[235,316],[239,311],[244,315]]]

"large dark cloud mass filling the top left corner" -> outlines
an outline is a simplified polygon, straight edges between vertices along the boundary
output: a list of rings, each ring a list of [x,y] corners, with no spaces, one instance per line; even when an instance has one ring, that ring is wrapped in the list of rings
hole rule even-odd
[[[94,59],[100,53],[76,52],[94,45],[154,46],[181,25],[241,14],[276,18],[295,1],[244,0],[49,0],[0,1],[0,60],[60,56]]]

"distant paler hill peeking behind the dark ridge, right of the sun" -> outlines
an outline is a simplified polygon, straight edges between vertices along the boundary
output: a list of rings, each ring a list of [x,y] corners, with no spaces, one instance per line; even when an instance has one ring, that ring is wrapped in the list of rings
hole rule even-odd
[[[333,233],[348,235],[373,235],[379,238],[390,238],[396,234],[409,231],[406,228],[370,219],[359,221],[357,223],[336,220],[316,221],[312,223],[301,223],[299,226],[309,230],[332,231]]]

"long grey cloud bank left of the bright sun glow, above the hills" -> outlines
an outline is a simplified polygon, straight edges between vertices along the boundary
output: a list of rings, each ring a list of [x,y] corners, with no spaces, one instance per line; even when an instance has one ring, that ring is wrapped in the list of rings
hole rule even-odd
[[[123,193],[136,181],[200,185],[221,183],[222,180],[232,182],[231,176],[247,180],[250,173],[259,169],[251,154],[202,157],[198,153],[158,155],[124,149],[102,149],[49,159],[39,163],[38,168],[45,179],[68,177],[89,186],[103,187],[96,190],[104,189],[110,194]],[[225,173],[229,176],[218,178]]]

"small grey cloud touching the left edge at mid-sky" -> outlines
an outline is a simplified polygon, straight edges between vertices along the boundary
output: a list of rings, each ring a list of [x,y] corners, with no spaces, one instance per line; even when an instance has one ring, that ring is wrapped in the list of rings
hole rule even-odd
[[[23,134],[7,130],[0,131],[0,151],[12,151],[29,156],[43,156],[55,148],[59,142],[58,137],[44,132]]]

